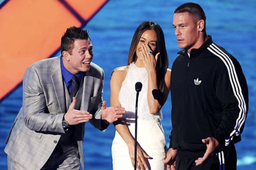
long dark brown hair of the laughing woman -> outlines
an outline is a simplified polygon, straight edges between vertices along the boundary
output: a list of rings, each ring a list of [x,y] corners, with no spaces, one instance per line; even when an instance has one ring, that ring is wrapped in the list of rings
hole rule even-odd
[[[152,21],[144,21],[143,23],[140,24],[140,26],[138,26],[138,28],[135,30],[135,33],[133,35],[133,40],[130,44],[130,50],[128,54],[128,65],[130,65],[130,63],[135,62],[137,60],[137,56],[136,56],[137,44],[139,43],[142,33],[144,33],[146,30],[154,30],[156,32],[157,42],[156,42],[156,50],[154,51],[154,53],[157,54],[158,52],[160,52],[156,62],[156,80],[157,80],[157,86],[159,90],[161,92],[164,92],[166,88],[164,76],[166,74],[166,70],[168,68],[169,62],[168,62],[168,55],[165,47],[164,32],[162,28],[159,26],[159,24]]]

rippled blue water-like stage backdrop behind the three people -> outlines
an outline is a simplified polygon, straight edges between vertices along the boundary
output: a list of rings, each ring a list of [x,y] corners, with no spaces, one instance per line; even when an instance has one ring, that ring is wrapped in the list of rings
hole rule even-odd
[[[0,0],[1,3],[6,1]],[[109,0],[83,27],[89,30],[94,47],[93,62],[105,72],[103,98],[109,106],[109,81],[114,68],[127,64],[127,55],[133,33],[145,20],[160,24],[164,30],[169,56],[169,68],[177,56],[178,49],[172,26],[173,12],[184,0]],[[242,142],[236,144],[237,169],[256,168],[256,2],[254,0],[194,0],[206,13],[206,30],[213,41],[223,46],[242,65],[249,86],[249,112],[242,133]],[[86,6],[86,0],[85,4]],[[1,21],[0,21],[1,23]],[[0,26],[1,27],[1,26]],[[43,29],[43,28],[42,28]],[[9,35],[15,42],[15,37]],[[59,37],[60,39],[60,37]],[[14,43],[15,46],[15,43]],[[14,49],[15,50],[15,49]],[[42,49],[44,50],[44,49]],[[59,51],[55,55],[60,54]],[[0,57],[8,57],[1,56]],[[2,67],[2,66],[1,66]],[[19,69],[19,68],[13,68]],[[6,72],[10,75],[11,73]],[[4,153],[5,140],[15,116],[22,105],[22,85],[5,96],[0,103],[0,169],[7,169]],[[171,130],[170,95],[162,108],[166,142]],[[87,170],[111,170],[111,143],[114,126],[105,132],[85,125],[84,157]]]

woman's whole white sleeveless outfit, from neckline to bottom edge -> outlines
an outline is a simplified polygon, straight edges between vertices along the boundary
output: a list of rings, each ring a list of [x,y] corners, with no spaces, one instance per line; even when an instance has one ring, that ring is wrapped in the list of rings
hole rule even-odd
[[[124,118],[130,133],[135,136],[135,101],[136,82],[142,83],[137,105],[137,142],[151,157],[147,161],[149,170],[164,170],[166,156],[166,140],[164,130],[160,123],[162,113],[149,113],[147,102],[148,74],[145,68],[138,68],[134,63],[129,65],[128,73],[124,79],[120,92],[119,102],[126,109]],[[129,151],[123,138],[116,131],[112,143],[113,170],[134,170]]]

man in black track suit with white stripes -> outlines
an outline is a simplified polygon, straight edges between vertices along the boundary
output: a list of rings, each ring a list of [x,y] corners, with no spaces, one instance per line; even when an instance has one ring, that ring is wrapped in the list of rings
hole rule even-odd
[[[247,82],[238,61],[206,34],[205,21],[198,4],[175,9],[173,27],[183,50],[172,66],[168,170],[237,167],[234,144],[247,117]]]

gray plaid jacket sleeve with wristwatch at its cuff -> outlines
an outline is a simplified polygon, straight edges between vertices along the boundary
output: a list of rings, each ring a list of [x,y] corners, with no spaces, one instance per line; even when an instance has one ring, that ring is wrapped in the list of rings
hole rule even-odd
[[[47,69],[46,69],[47,70]],[[43,71],[43,70],[41,70]],[[39,76],[41,75],[41,76]],[[45,77],[43,77],[43,76]],[[64,133],[62,119],[64,113],[49,113],[43,90],[42,79],[49,79],[47,74],[38,74],[33,65],[30,66],[23,79],[23,117],[26,126],[34,131]],[[58,108],[59,109],[59,108]]]

